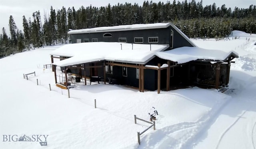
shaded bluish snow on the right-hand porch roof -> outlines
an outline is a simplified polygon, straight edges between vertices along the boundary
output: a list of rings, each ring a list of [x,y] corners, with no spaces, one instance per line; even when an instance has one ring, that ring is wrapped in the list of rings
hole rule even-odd
[[[238,54],[234,51],[224,52],[221,50],[207,50],[199,47],[181,47],[164,52],[156,52],[156,56],[164,60],[170,60],[183,64],[194,60],[213,60],[224,61],[233,55],[238,58]]]

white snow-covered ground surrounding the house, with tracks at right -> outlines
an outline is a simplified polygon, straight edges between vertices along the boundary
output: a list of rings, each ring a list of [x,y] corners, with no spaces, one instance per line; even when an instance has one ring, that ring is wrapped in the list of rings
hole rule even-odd
[[[255,149],[256,35],[233,31],[235,36],[240,39],[193,40],[200,48],[239,54],[225,93],[198,87],[140,93],[93,83],[70,89],[68,98],[67,90],[55,86],[51,69],[43,68],[51,62],[49,53],[60,46],[2,58],[0,149]],[[36,76],[24,79],[30,72]],[[154,110],[156,130],[142,134],[138,145],[137,132],[150,124],[134,124],[134,115],[149,121]],[[31,141],[18,141],[20,137]]]

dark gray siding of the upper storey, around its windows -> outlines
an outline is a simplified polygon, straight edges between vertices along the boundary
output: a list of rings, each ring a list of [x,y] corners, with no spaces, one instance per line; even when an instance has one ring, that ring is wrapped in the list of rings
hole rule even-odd
[[[170,32],[173,30],[173,46],[171,46]],[[105,33],[112,34],[112,37],[103,37]],[[97,38],[98,42],[119,42],[119,38],[126,38],[126,43],[134,43],[135,37],[143,37],[143,43],[149,44],[148,37],[158,37],[158,43],[152,44],[169,44],[170,47],[179,48],[183,46],[192,46],[179,32],[169,26],[168,28],[148,29],[148,30],[130,30],[118,32],[97,32],[97,33],[84,33],[84,34],[71,34],[72,43],[76,43],[76,39],[89,39],[92,42],[93,38]]]

